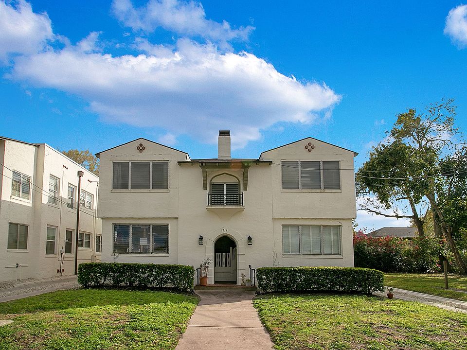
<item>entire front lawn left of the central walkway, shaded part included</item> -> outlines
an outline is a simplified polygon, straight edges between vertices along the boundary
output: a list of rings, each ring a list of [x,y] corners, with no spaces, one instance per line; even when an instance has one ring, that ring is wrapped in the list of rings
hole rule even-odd
[[[198,298],[80,289],[0,303],[0,349],[175,349]]]

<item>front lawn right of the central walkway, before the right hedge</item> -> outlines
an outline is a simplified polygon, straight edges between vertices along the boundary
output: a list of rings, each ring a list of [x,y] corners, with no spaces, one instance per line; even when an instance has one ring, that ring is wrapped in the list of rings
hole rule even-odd
[[[467,314],[352,295],[264,295],[253,300],[276,349],[465,350]]]

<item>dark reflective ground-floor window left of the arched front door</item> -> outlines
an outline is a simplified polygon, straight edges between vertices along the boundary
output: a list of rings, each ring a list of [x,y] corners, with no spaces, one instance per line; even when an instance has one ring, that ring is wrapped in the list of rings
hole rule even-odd
[[[169,225],[113,225],[114,253],[169,253]]]

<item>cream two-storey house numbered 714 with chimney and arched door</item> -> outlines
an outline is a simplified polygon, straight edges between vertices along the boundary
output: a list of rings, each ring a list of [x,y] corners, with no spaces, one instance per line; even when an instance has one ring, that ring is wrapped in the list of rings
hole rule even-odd
[[[187,264],[213,258],[208,283],[262,266],[353,266],[356,153],[306,138],[232,159],[138,139],[100,152],[102,260]]]

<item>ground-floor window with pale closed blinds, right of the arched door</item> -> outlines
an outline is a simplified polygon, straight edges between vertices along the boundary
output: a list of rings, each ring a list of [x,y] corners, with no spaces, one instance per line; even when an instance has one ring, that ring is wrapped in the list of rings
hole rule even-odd
[[[341,227],[283,225],[282,252],[296,255],[341,255]]]

